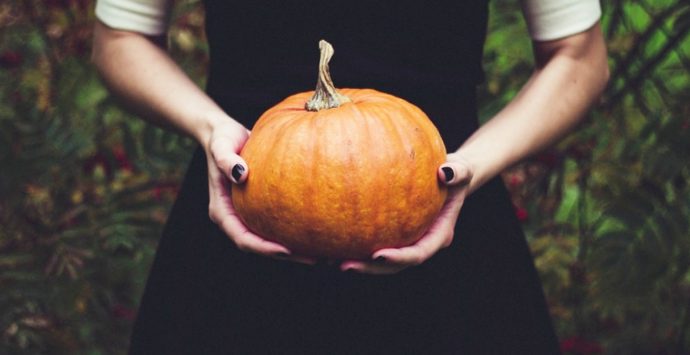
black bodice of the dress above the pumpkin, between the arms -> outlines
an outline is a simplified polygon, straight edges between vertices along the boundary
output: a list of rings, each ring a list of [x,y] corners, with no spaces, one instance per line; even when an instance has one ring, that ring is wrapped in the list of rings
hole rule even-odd
[[[270,106],[313,90],[318,41],[333,44],[337,87],[420,106],[448,149],[476,129],[486,1],[207,0],[209,94],[251,128]]]

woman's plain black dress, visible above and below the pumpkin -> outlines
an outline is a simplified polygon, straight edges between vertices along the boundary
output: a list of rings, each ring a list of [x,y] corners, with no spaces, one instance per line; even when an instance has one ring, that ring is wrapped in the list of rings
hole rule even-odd
[[[455,150],[477,128],[486,1],[208,0],[208,93],[251,127],[316,83],[420,106]],[[391,276],[238,251],[209,220],[198,150],[160,241],[133,354],[554,354],[532,257],[501,181],[472,194],[452,246]]]

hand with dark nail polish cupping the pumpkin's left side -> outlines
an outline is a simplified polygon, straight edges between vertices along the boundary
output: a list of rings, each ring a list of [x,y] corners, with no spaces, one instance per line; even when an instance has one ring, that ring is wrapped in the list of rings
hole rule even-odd
[[[204,145],[208,162],[209,217],[242,251],[313,264],[314,260],[292,255],[285,246],[252,233],[235,211],[230,184],[242,184],[247,180],[249,168],[238,153],[248,138],[249,131],[229,118],[211,130],[208,143]]]

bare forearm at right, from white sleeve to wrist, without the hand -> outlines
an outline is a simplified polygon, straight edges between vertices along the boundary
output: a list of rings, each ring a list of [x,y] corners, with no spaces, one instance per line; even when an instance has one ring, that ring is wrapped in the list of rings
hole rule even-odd
[[[608,80],[598,25],[562,41],[536,43],[535,54],[537,69],[520,93],[458,150],[473,169],[471,190],[573,129]]]

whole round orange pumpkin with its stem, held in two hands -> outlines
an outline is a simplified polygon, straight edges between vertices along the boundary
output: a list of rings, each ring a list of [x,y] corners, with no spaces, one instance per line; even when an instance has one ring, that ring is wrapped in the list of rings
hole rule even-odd
[[[415,243],[446,198],[446,149],[415,105],[373,89],[336,90],[319,43],[316,90],[256,122],[240,155],[249,166],[232,203],[249,229],[293,253],[370,258]]]

